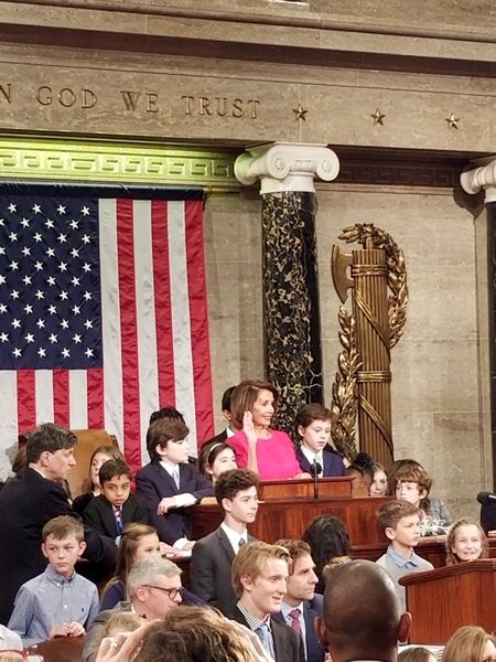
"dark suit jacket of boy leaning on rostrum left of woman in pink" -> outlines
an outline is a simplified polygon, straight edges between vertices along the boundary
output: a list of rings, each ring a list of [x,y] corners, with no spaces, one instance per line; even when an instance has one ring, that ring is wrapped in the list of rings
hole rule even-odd
[[[136,491],[144,498],[150,513],[151,524],[159,532],[159,537],[169,545],[173,545],[181,537],[191,537],[191,523],[184,508],[170,510],[166,515],[158,515],[157,508],[164,496],[175,496],[188,492],[198,501],[204,496],[212,496],[212,483],[200,476],[193,465],[181,463],[180,488],[175,487],[173,478],[157,460],[140,469],[136,476]]]

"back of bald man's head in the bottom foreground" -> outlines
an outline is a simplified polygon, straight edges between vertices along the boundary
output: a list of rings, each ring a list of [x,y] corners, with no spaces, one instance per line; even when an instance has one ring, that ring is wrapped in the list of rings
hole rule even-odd
[[[324,595],[319,636],[333,662],[396,662],[398,641],[406,641],[411,616],[401,613],[395,583],[370,560],[353,560],[332,575]]]

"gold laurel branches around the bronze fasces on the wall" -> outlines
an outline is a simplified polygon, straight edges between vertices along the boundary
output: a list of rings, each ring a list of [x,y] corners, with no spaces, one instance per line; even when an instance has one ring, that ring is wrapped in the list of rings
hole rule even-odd
[[[338,237],[347,244],[358,242],[365,245],[373,243],[375,248],[384,248],[388,267],[388,287],[391,291],[388,297],[389,320],[389,348],[393,348],[403,333],[407,321],[408,286],[405,254],[392,237],[371,223],[357,223],[345,227]],[[338,321],[342,331],[338,333],[344,350],[337,357],[339,371],[333,384],[332,412],[332,439],[337,450],[353,460],[356,456],[355,423],[357,416],[356,378],[360,366],[356,348],[355,319],[341,307]]]

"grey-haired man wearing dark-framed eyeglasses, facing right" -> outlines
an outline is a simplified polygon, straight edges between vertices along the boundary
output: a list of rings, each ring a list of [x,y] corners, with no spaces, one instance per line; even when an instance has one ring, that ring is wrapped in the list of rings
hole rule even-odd
[[[93,621],[83,649],[82,662],[95,662],[105,626],[114,613],[133,611],[147,620],[163,618],[182,602],[181,568],[160,556],[138,562],[129,573],[129,602],[118,602],[114,609],[100,611]]]

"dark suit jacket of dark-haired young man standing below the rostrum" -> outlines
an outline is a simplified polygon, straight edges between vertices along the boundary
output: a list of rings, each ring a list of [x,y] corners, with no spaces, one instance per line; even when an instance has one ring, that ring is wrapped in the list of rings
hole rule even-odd
[[[248,541],[254,540],[248,535]],[[220,526],[197,541],[191,554],[191,590],[226,616],[234,612],[238,601],[230,576],[235,556],[229,538]]]

